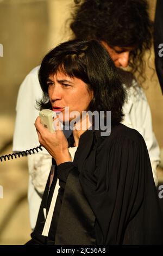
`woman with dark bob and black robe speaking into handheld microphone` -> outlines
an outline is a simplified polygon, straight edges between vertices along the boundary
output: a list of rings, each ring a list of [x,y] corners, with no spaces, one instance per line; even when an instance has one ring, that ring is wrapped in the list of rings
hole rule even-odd
[[[126,93],[105,48],[96,40],[65,42],[43,58],[39,81],[42,108],[58,113],[54,133],[39,117],[35,121],[39,141],[53,157],[54,172],[27,245],[162,244],[148,150],[139,132],[120,124]],[[60,120],[70,123],[74,111],[77,119],[67,141]],[[95,129],[98,118],[93,123],[90,114],[83,118],[83,112],[94,111],[99,119],[104,112],[105,121],[111,111],[108,136]]]

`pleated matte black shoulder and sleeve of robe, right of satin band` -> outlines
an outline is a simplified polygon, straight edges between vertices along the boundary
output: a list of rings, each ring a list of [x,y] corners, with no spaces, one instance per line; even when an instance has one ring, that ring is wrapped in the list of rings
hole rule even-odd
[[[163,244],[158,195],[140,133],[118,125],[109,137],[99,136],[95,161],[90,168],[87,156],[79,180],[96,216],[96,243]]]

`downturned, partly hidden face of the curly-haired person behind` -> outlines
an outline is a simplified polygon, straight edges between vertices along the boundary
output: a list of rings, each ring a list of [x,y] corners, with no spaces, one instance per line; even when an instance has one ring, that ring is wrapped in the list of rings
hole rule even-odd
[[[129,63],[130,52],[133,51],[134,47],[110,47],[106,42],[102,41],[103,46],[109,52],[110,57],[114,61],[117,68],[127,68]]]

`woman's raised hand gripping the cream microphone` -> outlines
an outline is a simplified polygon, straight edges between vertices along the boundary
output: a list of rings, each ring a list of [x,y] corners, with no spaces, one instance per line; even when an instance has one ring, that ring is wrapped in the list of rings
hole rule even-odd
[[[61,130],[58,117],[54,119],[54,133],[49,132],[43,127],[40,117],[37,117],[35,127],[40,144],[49,152],[49,154],[51,154],[57,165],[64,162],[72,162],[68,152],[68,142],[64,132]]]

